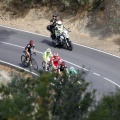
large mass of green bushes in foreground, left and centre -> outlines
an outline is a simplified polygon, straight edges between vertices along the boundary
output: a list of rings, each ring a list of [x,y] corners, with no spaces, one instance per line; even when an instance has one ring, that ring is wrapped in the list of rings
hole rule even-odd
[[[0,86],[1,120],[77,120],[87,114],[94,91],[86,91],[89,83],[83,71],[70,77],[39,73],[39,77],[17,75]]]

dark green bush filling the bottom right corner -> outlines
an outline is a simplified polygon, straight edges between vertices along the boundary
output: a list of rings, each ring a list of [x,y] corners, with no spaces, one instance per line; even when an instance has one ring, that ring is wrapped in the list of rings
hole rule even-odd
[[[91,111],[86,120],[119,120],[120,119],[120,90],[103,99]]]

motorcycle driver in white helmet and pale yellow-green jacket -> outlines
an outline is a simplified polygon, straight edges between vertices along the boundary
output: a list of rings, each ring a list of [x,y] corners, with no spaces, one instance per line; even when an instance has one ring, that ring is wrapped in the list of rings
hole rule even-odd
[[[63,31],[64,31],[64,26],[62,25],[61,21],[58,21],[57,25],[55,26],[56,44],[58,44],[60,35]]]

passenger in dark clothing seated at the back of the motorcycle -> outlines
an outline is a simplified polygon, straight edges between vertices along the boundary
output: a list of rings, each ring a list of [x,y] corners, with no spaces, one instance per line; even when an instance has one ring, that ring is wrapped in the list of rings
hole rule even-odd
[[[55,26],[56,26],[56,22],[57,22],[57,15],[53,14],[53,18],[50,20],[50,25],[47,26],[47,30],[49,30],[51,32],[51,38],[55,39]]]

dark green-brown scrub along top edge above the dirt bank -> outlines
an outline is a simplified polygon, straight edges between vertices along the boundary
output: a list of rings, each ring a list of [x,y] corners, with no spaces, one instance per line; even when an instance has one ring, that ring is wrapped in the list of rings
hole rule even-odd
[[[56,5],[56,7],[63,7],[65,9],[78,10],[79,8],[95,8],[96,6],[100,6],[105,0],[2,0],[4,6],[10,11],[20,12],[23,14],[27,12],[30,8],[36,5]]]

